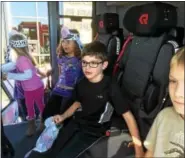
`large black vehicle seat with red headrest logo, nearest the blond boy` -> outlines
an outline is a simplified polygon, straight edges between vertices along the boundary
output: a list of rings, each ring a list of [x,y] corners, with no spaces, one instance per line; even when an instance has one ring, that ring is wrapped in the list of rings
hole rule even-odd
[[[144,140],[164,108],[169,63],[175,52],[168,43],[169,31],[176,27],[177,11],[160,2],[135,6],[127,11],[123,23],[134,38],[119,63],[118,82]]]

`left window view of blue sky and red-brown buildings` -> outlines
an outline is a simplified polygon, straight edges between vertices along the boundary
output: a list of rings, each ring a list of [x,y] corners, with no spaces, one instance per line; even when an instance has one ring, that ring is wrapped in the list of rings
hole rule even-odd
[[[8,32],[17,30],[26,35],[28,48],[43,71],[50,69],[50,48],[47,2],[4,2]]]

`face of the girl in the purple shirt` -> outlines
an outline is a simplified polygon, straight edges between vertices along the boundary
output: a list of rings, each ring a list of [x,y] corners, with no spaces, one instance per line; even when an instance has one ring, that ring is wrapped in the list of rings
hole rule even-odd
[[[62,40],[62,47],[64,51],[68,54],[75,52],[75,41],[72,40]]]

